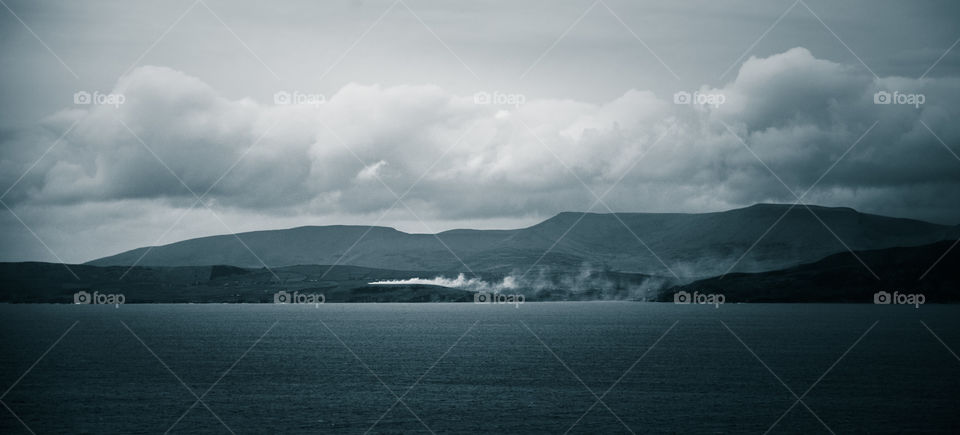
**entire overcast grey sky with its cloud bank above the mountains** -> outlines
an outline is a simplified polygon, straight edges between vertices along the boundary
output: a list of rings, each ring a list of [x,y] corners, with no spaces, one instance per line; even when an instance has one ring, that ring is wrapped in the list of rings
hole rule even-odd
[[[759,202],[960,224],[956,2],[662,3],[2,0],[0,261]]]

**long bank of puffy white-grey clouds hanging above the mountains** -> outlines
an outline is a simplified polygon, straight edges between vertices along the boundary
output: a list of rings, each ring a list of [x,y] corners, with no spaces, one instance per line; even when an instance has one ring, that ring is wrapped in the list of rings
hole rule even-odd
[[[14,209],[182,209],[209,190],[234,215],[376,216],[396,194],[425,220],[475,222],[585,210],[590,190],[615,183],[604,201],[618,211],[793,201],[779,178],[798,195],[817,183],[811,203],[960,217],[960,161],[940,143],[957,151],[958,78],[877,79],[794,48],[751,57],[720,87],[686,91],[724,101],[675,104],[628,90],[604,103],[511,106],[434,85],[352,83],[324,104],[278,105],[141,67],[112,90],[125,96],[119,107],[75,106],[0,132],[0,183],[16,182],[3,199]],[[875,104],[878,91],[925,102]]]

